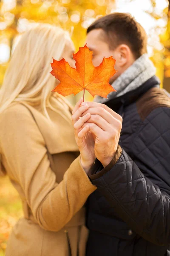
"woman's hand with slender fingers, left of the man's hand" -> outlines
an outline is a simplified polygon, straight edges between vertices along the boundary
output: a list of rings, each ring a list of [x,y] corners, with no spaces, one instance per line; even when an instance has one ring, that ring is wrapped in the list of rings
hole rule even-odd
[[[91,114],[86,113],[85,116],[81,117],[82,114],[88,110],[88,104],[81,106],[82,102],[83,99],[81,98],[74,107],[72,121],[74,125],[75,140],[81,154],[80,162],[85,172],[88,173],[91,166],[93,166],[96,157],[94,154],[94,135],[89,131],[89,125],[84,125],[85,122],[88,122],[91,118]],[[82,125],[84,125],[83,128]]]

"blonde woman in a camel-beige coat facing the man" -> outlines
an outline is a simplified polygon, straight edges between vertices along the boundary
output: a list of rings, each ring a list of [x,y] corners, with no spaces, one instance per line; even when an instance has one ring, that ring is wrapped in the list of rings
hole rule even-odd
[[[85,255],[83,205],[96,189],[86,174],[94,153],[77,147],[71,107],[51,93],[57,80],[49,73],[51,57],[74,67],[73,52],[66,32],[38,25],[21,37],[0,90],[1,173],[20,194],[24,212],[6,256]]]

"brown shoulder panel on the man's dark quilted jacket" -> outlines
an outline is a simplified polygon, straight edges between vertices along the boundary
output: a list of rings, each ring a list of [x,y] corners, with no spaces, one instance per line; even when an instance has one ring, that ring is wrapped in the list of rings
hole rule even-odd
[[[170,108],[170,97],[161,88],[147,91],[137,102],[137,111],[142,121],[156,108]]]

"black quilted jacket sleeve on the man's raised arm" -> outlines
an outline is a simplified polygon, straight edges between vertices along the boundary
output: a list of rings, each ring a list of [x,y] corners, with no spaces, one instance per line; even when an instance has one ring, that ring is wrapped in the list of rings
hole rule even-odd
[[[170,108],[152,111],[139,129],[130,150],[135,162],[119,146],[89,177],[134,232],[163,246],[170,243]]]

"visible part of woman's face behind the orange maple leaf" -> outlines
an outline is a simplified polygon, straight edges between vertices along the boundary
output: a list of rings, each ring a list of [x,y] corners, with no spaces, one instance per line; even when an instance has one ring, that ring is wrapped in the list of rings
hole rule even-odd
[[[64,51],[62,53],[62,58],[65,59],[65,61],[68,62],[68,64],[71,66],[71,67],[76,67],[75,63],[76,61],[74,60],[73,58],[73,53],[75,52],[75,49],[74,49],[74,44],[72,41],[69,41],[67,40],[66,41],[66,44],[65,44],[65,48],[64,48]]]

